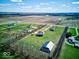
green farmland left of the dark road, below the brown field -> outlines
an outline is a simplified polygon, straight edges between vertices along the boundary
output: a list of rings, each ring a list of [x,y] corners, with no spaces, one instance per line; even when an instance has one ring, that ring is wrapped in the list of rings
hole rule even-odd
[[[55,28],[55,30],[50,31],[50,28]],[[27,32],[27,30],[32,30],[33,33]],[[2,23],[0,24],[0,57],[2,59],[24,59],[25,56],[29,55],[29,58],[33,59],[40,59],[40,57],[42,59],[48,59],[49,54],[40,51],[40,48],[45,42],[52,41],[55,46],[50,53],[51,56],[63,30],[64,27],[49,24],[40,25],[15,21]],[[36,36],[34,33],[37,31],[44,31],[44,36]],[[12,54],[12,51],[14,51],[14,54]]]

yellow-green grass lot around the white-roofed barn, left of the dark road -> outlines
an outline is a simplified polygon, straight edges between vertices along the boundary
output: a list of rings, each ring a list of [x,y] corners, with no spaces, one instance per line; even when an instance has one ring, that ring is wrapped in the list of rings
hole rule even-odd
[[[27,54],[37,56],[38,59],[45,59],[42,58],[43,55],[40,52],[40,48],[42,45],[47,41],[52,41],[55,45],[57,44],[58,40],[60,39],[61,34],[63,33],[63,27],[55,27],[55,31],[47,30],[43,37],[38,37],[36,35],[31,35],[25,37],[18,41],[15,45],[18,46],[20,49],[22,48],[23,51],[27,51]],[[40,56],[40,58],[39,58]]]

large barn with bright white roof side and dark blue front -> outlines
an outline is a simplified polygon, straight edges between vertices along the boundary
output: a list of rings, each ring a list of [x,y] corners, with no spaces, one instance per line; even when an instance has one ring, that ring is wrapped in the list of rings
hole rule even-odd
[[[54,47],[54,43],[52,41],[49,41],[43,44],[40,50],[46,53],[50,53],[53,47]]]

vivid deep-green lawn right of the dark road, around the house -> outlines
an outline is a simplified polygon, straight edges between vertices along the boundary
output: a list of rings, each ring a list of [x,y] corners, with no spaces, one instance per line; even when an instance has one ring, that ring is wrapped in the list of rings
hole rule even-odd
[[[73,34],[73,36],[76,35],[75,28],[70,28],[69,31]],[[64,42],[59,59],[79,59],[79,49],[67,45]]]

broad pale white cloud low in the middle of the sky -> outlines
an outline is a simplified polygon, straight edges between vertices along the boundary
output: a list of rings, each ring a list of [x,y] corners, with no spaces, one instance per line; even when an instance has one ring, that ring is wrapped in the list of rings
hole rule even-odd
[[[42,7],[41,5],[35,5],[35,6],[21,6],[20,7],[22,11],[25,11],[25,12],[52,12],[55,11],[56,9],[52,6],[48,7],[48,6],[45,6],[45,7]]]

